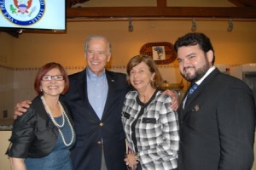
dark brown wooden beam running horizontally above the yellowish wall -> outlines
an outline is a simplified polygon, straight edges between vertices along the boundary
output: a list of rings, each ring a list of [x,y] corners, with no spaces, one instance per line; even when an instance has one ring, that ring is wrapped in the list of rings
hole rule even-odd
[[[162,1],[158,1],[162,2]],[[67,8],[67,20],[74,18],[173,17],[234,18],[256,20],[255,7],[90,7]]]

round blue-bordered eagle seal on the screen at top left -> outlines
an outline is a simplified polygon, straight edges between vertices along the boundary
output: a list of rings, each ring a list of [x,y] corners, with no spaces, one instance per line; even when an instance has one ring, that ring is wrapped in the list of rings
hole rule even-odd
[[[30,26],[40,20],[45,12],[44,0],[2,0],[3,16],[18,26]]]

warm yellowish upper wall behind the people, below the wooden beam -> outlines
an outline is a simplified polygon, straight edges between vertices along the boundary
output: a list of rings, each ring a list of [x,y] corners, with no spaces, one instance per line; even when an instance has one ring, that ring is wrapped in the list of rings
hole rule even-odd
[[[211,37],[218,64],[255,63],[256,22],[234,21],[234,30],[227,32],[228,21],[197,21],[197,31]],[[14,38],[14,67],[38,67],[48,61],[62,65],[84,65],[84,38],[101,34],[113,43],[111,65],[126,65],[147,42],[172,42],[190,31],[191,21],[128,21],[68,22],[66,34],[21,34]],[[0,35],[0,39],[2,34]],[[1,41],[1,40],[0,40]]]

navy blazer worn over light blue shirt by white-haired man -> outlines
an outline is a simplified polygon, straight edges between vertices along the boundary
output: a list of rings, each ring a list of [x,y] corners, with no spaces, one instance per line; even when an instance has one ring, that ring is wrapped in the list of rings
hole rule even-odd
[[[86,71],[69,76],[70,87],[65,100],[73,112],[77,135],[77,144],[72,151],[75,170],[100,170],[102,145],[108,170],[125,169],[125,132],[121,111],[128,90],[126,76],[112,71],[106,71],[106,75],[108,97],[102,120],[88,100]]]

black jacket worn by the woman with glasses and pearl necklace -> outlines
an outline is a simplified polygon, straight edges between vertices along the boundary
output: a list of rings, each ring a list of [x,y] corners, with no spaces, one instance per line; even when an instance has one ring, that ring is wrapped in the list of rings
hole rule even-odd
[[[73,121],[63,105],[70,122]],[[11,157],[44,157],[55,148],[59,131],[47,115],[40,96],[32,100],[31,107],[14,122],[7,154]]]

